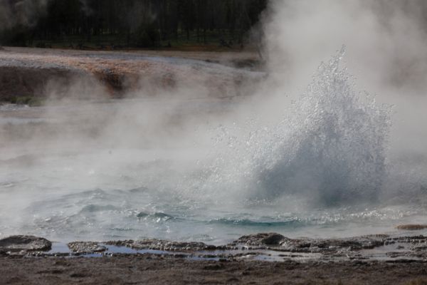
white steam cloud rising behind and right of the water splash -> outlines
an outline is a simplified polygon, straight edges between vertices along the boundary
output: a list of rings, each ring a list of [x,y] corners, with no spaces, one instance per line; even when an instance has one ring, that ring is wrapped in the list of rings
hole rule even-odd
[[[344,44],[358,89],[394,105],[390,152],[426,157],[426,9],[422,0],[271,1],[264,19],[268,86],[295,98],[320,61]]]

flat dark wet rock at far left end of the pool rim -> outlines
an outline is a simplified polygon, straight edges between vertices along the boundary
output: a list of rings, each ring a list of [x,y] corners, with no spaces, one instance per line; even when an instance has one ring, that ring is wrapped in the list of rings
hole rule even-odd
[[[0,239],[0,252],[48,251],[51,248],[52,243],[43,237],[18,235]]]

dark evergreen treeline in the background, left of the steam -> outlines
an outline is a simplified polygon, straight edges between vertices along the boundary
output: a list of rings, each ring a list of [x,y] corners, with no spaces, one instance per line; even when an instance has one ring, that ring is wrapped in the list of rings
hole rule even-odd
[[[3,1],[9,1],[11,14],[22,10],[16,9],[22,1]],[[243,46],[259,41],[248,32],[267,1],[48,0],[33,24],[4,28],[0,39],[4,45],[39,47]]]

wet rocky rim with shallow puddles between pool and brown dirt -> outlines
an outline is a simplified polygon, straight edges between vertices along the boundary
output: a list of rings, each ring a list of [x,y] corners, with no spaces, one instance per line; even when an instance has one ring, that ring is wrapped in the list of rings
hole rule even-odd
[[[109,242],[50,242],[33,236],[0,239],[0,253],[9,257],[113,257],[149,254],[192,260],[263,261],[426,261],[427,237],[415,234],[375,234],[342,239],[291,239],[277,233],[242,236],[229,244],[139,239]]]

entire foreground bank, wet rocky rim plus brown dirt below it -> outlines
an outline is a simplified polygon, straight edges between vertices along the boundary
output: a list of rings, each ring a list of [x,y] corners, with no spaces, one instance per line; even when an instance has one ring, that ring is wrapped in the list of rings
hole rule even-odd
[[[144,239],[70,242],[57,252],[47,239],[13,236],[0,240],[0,276],[0,284],[422,285],[427,237],[260,233],[223,246]]]

